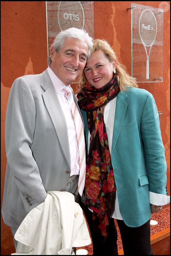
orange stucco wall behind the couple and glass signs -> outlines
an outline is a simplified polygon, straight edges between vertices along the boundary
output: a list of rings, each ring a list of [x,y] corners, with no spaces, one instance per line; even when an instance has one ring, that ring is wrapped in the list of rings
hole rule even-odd
[[[167,160],[167,189],[170,195],[170,1],[134,1],[164,7],[163,82],[139,83],[153,94],[162,114],[162,139]],[[94,1],[95,38],[106,39],[118,59],[131,74],[131,1]],[[38,74],[47,68],[45,1],[1,1],[1,203],[4,189],[6,154],[5,113],[13,81],[22,75]],[[75,86],[73,85],[75,90]],[[167,207],[166,205],[165,207]],[[164,207],[163,207],[164,208]],[[10,228],[1,218],[1,255],[14,252]]]

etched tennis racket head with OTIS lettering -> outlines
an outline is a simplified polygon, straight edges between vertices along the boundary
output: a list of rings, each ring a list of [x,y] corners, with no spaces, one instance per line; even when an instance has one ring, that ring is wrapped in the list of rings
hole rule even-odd
[[[60,1],[57,11],[60,30],[72,27],[83,29],[84,10],[80,1]]]

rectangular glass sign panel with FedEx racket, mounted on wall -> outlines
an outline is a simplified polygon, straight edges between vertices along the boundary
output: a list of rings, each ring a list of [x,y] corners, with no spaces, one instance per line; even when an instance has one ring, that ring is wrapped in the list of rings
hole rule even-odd
[[[131,4],[131,65],[136,82],[163,81],[164,10]]]

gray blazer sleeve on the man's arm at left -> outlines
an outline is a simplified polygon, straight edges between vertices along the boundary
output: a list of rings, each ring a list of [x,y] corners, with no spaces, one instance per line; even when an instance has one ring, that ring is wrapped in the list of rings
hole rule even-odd
[[[36,106],[30,87],[23,77],[17,78],[9,94],[5,121],[5,145],[10,175],[20,191],[27,212],[44,202],[47,193],[31,146],[36,125]],[[32,207],[26,198],[29,196]]]

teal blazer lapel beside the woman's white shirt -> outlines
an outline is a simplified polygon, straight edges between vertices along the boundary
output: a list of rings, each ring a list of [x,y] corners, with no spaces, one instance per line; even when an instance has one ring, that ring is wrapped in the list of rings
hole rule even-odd
[[[125,113],[127,109],[127,103],[124,101],[127,97],[126,91],[124,93],[119,93],[116,99],[116,110],[115,110],[115,119],[114,119],[114,131],[112,138],[112,153],[116,146],[116,142],[118,140],[119,133],[121,131],[121,127],[125,118]]]

